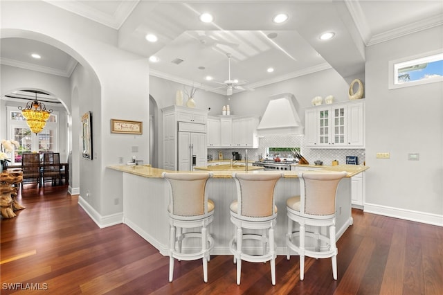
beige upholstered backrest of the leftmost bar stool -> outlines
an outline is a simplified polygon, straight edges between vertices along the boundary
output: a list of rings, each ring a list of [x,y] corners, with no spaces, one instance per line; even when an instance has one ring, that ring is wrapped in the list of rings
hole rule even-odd
[[[208,214],[206,182],[212,173],[163,172],[161,176],[170,184],[170,214],[180,217]]]

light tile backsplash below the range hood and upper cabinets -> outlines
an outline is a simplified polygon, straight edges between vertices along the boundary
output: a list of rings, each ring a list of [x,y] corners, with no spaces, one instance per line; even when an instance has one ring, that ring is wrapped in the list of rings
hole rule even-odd
[[[314,163],[316,160],[323,161],[325,165],[331,165],[333,160],[337,160],[339,164],[346,163],[346,156],[358,157],[358,164],[363,165],[365,161],[365,149],[311,149],[305,147],[304,135],[272,135],[259,138],[259,148],[251,148],[248,150],[248,161],[258,161],[260,155],[266,157],[266,147],[300,147],[303,157]],[[244,148],[233,149],[208,149],[210,155],[215,161],[218,160],[218,152],[223,153],[223,159],[232,159],[233,152],[242,154],[242,159],[245,157]]]

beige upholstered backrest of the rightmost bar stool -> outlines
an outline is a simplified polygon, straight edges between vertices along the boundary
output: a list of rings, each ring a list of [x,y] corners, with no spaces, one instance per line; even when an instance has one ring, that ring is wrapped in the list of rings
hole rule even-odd
[[[330,218],[335,214],[338,183],[346,172],[300,172],[300,215]]]

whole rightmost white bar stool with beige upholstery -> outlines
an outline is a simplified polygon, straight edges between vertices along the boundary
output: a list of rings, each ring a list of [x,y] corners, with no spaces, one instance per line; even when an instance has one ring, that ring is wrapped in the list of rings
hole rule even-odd
[[[300,172],[300,195],[286,201],[287,259],[291,250],[300,256],[300,280],[305,276],[305,256],[330,257],[332,276],[337,279],[335,200],[338,182],[345,176],[346,172]],[[293,222],[298,230],[293,231]]]

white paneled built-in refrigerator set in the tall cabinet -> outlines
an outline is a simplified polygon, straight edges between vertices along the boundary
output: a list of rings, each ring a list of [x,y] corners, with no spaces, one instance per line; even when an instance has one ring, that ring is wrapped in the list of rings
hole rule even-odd
[[[195,166],[206,166],[206,124],[179,122],[178,144],[178,170],[191,171]]]

